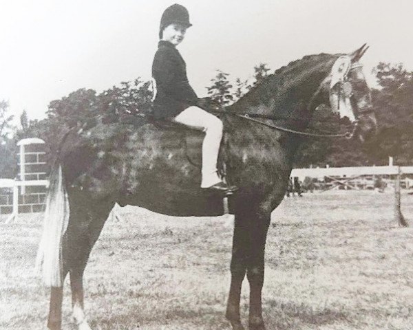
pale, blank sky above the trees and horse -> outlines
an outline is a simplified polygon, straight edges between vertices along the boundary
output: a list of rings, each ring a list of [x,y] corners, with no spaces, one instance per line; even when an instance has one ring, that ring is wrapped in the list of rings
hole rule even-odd
[[[52,100],[80,88],[100,93],[151,78],[166,0],[0,0],[0,100],[19,118],[45,117]],[[180,0],[193,24],[178,46],[189,82],[207,96],[216,70],[251,78],[305,55],[370,49],[413,70],[411,0]],[[374,85],[372,76],[370,85]]]

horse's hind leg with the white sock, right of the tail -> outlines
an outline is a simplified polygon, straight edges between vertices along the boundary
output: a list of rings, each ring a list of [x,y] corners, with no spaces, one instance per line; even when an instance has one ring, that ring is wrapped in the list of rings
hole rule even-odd
[[[97,210],[77,204],[71,209],[76,220],[69,223],[67,228],[67,248],[70,252],[73,318],[78,330],[90,330],[83,303],[83,272],[112,207],[112,203],[99,203]]]

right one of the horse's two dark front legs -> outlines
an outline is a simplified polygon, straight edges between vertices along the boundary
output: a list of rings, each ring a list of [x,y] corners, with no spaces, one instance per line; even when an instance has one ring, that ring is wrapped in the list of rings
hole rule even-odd
[[[262,319],[262,285],[264,284],[264,252],[270,215],[258,216],[251,226],[251,247],[246,276],[250,285],[249,329],[264,330]]]

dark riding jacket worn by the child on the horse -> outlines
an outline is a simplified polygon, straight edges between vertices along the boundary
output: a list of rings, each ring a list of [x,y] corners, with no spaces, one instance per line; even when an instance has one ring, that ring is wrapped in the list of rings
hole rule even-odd
[[[153,115],[173,118],[198,102],[198,96],[189,85],[184,59],[169,41],[159,41],[153,58],[152,76],[156,81]]]

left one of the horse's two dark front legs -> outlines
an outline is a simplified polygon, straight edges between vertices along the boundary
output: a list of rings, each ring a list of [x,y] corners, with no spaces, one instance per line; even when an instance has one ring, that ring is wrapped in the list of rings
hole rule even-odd
[[[242,212],[235,214],[231,259],[231,287],[226,307],[226,318],[231,322],[233,330],[244,330],[240,318],[240,299],[242,281],[244,281],[246,273],[246,252],[248,251],[248,235],[245,229],[244,214]]]

